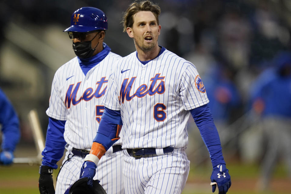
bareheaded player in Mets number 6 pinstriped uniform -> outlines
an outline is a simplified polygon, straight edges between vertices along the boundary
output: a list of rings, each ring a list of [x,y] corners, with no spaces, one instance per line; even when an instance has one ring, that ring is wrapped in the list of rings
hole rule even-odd
[[[231,180],[222,156],[206,90],[196,67],[159,46],[160,8],[133,2],[123,16],[136,52],[112,66],[105,109],[81,177],[92,184],[103,153],[119,139],[122,125],[125,193],[181,193],[189,174],[187,122],[192,114],[213,165],[212,192],[228,191]]]

